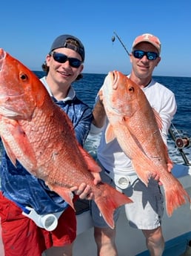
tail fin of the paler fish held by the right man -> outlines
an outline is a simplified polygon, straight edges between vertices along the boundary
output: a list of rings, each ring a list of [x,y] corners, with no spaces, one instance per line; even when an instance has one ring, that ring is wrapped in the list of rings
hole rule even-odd
[[[181,183],[175,179],[173,186],[169,186],[164,189],[166,199],[167,214],[170,217],[172,212],[178,207],[187,203],[187,200],[191,202],[190,195],[181,185]]]

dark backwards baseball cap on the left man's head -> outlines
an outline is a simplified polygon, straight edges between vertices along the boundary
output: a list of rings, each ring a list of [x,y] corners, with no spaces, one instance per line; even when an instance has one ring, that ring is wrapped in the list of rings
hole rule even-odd
[[[78,42],[78,46],[74,45],[73,43],[67,42],[67,39],[75,40],[76,42]],[[71,36],[71,35],[58,36],[54,40],[53,45],[50,47],[50,52],[57,49],[57,48],[61,48],[61,47],[65,47],[65,48],[69,48],[71,50],[75,50],[76,53],[79,53],[79,55],[81,56],[82,61],[84,62],[84,59],[85,59],[84,45],[82,45],[81,41],[79,39],[77,39],[75,36]]]

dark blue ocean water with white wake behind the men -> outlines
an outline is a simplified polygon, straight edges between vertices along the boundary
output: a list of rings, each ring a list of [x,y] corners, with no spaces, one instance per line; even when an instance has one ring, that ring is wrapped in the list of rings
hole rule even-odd
[[[34,73],[36,73],[39,78],[44,76],[44,73],[41,71],[34,71]],[[107,76],[107,74],[84,73],[83,79],[73,83],[78,98],[87,103],[90,108],[93,108],[96,94],[99,88],[101,88],[105,76]],[[175,93],[178,105],[177,112],[172,120],[172,131],[174,131],[175,137],[191,138],[191,77],[154,76],[153,78]],[[85,148],[93,157],[96,157],[99,139],[100,134],[94,137],[87,137]],[[174,163],[184,163],[178,148],[175,147],[175,142],[172,141],[170,136],[168,146],[172,161]],[[191,163],[191,147],[184,148],[183,151],[187,158],[190,158]]]

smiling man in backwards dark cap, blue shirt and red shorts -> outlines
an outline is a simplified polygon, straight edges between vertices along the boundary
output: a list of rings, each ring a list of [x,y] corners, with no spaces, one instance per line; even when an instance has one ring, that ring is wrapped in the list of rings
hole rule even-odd
[[[72,83],[81,78],[84,46],[75,36],[56,38],[42,68],[47,76],[41,78],[53,101],[73,122],[76,139],[83,146],[90,131],[91,109],[77,98]],[[46,156],[44,156],[46,157]],[[93,174],[95,183],[100,178]],[[71,188],[81,199],[91,199],[90,186]],[[31,217],[27,216],[30,207]],[[26,210],[26,211],[25,211]],[[24,211],[24,214],[23,214]],[[57,226],[43,226],[42,215],[58,219]],[[0,217],[5,255],[71,256],[76,238],[76,214],[73,209],[45,185],[30,175],[19,163],[16,167],[4,152],[1,160]]]

